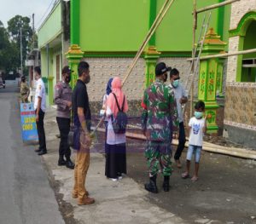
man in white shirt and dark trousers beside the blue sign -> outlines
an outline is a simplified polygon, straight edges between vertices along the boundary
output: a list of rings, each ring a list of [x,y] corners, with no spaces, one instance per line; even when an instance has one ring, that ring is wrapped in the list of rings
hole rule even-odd
[[[35,72],[35,79],[37,80],[34,109],[36,111],[36,121],[37,121],[38,140],[39,140],[39,148],[35,150],[35,152],[38,152],[38,155],[41,156],[47,153],[45,133],[44,133],[44,113],[46,109],[46,99],[45,99],[45,87],[44,87],[44,82],[41,78],[40,67],[36,66],[34,69],[34,72]]]

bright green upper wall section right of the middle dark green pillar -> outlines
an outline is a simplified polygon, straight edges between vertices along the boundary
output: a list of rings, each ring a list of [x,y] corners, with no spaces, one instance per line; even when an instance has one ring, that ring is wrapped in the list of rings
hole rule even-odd
[[[158,0],[158,11],[165,0]],[[197,9],[218,3],[218,0],[198,0]],[[172,4],[158,31],[156,32],[156,45],[160,51],[191,51],[193,41],[193,1],[178,0]],[[198,27],[196,41],[201,31],[202,20],[205,13],[198,14]],[[212,10],[209,28],[218,32],[218,9]]]

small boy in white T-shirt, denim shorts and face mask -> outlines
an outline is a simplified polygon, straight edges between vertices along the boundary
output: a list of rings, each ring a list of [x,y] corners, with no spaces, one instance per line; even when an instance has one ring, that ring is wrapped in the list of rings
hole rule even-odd
[[[201,157],[203,135],[207,132],[207,119],[203,118],[205,103],[198,101],[195,104],[195,117],[189,120],[189,149],[187,152],[187,167],[182,178],[189,178],[190,161],[195,154],[195,173],[191,181],[198,180],[199,161]]]

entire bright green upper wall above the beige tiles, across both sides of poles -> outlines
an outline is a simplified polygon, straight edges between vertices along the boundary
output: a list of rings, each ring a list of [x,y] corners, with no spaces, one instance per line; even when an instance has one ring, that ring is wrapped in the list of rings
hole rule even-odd
[[[77,0],[73,0],[77,1]],[[85,52],[137,51],[165,0],[80,0],[79,45]],[[198,0],[197,8],[223,2]],[[193,1],[177,0],[166,14],[151,44],[160,51],[189,52],[192,48]],[[201,30],[199,14],[197,34]],[[151,16],[151,17],[150,17]],[[228,42],[230,5],[212,10],[210,27]]]

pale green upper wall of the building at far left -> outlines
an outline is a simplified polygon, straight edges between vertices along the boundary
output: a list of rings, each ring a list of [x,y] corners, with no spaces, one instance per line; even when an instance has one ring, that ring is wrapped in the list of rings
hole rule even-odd
[[[39,49],[49,43],[61,33],[61,2],[56,4],[48,18],[38,29]]]

